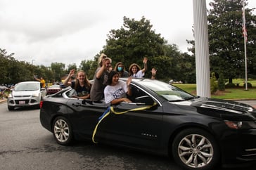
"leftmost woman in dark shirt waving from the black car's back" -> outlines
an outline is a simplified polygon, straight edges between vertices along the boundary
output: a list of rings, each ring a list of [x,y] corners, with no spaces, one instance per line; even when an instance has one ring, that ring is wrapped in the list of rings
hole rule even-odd
[[[77,72],[77,76],[75,81],[70,81],[70,78],[75,75],[75,69],[70,70],[68,77],[64,81],[65,86],[71,86],[72,89],[77,91],[76,96],[72,96],[73,98],[82,98],[87,99],[90,98],[91,84],[87,79],[87,75],[83,70],[79,70]]]

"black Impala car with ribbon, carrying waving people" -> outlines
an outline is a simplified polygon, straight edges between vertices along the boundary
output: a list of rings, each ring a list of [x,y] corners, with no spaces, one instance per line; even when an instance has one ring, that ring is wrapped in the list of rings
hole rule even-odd
[[[120,79],[126,81],[126,79]],[[193,96],[156,79],[132,79],[132,103],[70,98],[66,88],[41,102],[40,121],[57,143],[91,140],[169,155],[186,169],[256,161],[256,110]]]

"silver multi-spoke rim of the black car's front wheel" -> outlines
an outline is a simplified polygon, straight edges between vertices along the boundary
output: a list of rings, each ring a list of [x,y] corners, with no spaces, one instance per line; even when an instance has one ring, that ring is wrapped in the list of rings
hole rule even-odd
[[[212,143],[198,134],[182,138],[178,147],[179,158],[192,168],[207,166],[212,161],[214,150]]]

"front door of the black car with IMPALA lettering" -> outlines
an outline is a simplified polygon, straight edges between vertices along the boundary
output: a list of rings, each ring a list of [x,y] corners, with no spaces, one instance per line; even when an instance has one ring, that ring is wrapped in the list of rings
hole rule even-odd
[[[135,89],[134,96],[147,96]],[[148,96],[149,97],[149,96]],[[153,100],[153,99],[151,99]],[[121,145],[151,147],[160,145],[162,133],[162,107],[159,103],[120,103],[111,106],[110,114],[98,124],[104,138]]]

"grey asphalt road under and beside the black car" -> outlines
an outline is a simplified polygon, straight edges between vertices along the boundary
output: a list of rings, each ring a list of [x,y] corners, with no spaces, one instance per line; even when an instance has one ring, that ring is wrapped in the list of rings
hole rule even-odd
[[[88,142],[77,142],[69,147],[58,145],[52,133],[41,126],[38,109],[10,112],[6,103],[0,103],[0,131],[0,169],[2,170],[181,170],[168,157],[144,152]],[[256,169],[256,166],[246,169]]]

